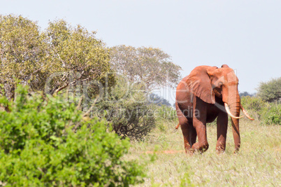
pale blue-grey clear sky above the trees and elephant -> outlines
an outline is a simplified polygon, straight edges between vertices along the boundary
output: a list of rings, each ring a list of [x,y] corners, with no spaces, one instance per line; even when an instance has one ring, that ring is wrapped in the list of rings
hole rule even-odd
[[[182,77],[194,67],[228,64],[240,92],[281,76],[281,1],[3,1],[0,13],[64,19],[96,31],[107,46],[152,46],[171,55]]]

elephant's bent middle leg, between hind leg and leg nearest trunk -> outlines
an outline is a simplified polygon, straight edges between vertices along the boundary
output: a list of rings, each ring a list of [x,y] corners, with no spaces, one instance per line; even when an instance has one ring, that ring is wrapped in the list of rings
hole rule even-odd
[[[207,106],[206,103],[201,99],[196,97],[196,102],[194,102],[193,111],[193,126],[196,129],[198,136],[198,142],[192,146],[194,151],[200,151],[203,153],[209,148],[207,141],[207,129],[206,129],[206,116],[207,116]]]

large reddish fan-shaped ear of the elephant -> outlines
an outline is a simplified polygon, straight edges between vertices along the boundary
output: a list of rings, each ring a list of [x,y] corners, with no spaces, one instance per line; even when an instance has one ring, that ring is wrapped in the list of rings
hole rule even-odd
[[[210,75],[217,67],[196,67],[187,78],[189,89],[204,102],[215,104],[215,93],[212,91]]]

